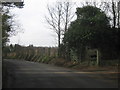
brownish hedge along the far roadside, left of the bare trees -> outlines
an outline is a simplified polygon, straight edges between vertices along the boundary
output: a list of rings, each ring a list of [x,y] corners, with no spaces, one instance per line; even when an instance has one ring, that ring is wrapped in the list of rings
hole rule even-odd
[[[55,57],[57,57],[56,47],[33,47],[33,45],[25,47],[18,44],[13,46],[11,44],[6,47],[3,52],[3,58],[28,61],[41,61]]]

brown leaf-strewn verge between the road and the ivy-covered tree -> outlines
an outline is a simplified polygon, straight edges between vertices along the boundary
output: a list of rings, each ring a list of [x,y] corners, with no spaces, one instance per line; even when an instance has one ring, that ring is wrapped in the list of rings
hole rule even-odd
[[[107,66],[97,66],[90,62],[75,62],[67,61],[63,58],[54,58],[50,60],[47,64],[54,64],[60,67],[71,68],[79,71],[89,71],[89,72],[118,72],[118,66],[116,65],[107,65]]]

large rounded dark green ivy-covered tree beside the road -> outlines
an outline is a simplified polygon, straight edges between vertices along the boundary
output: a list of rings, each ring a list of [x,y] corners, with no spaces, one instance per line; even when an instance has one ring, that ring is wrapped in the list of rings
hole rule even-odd
[[[84,6],[77,8],[76,15],[77,19],[71,23],[63,41],[77,53],[79,60],[84,59],[86,46],[101,51],[108,51],[109,45],[114,47],[116,32],[110,28],[110,19],[101,9]]]

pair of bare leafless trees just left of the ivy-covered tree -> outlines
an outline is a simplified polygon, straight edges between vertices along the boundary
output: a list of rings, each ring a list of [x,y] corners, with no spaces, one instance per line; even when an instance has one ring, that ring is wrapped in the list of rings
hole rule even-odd
[[[58,56],[60,56],[61,36],[67,31],[68,26],[73,19],[72,2],[56,2],[55,5],[47,5],[48,14],[45,19],[51,29],[55,31],[58,37]]]

